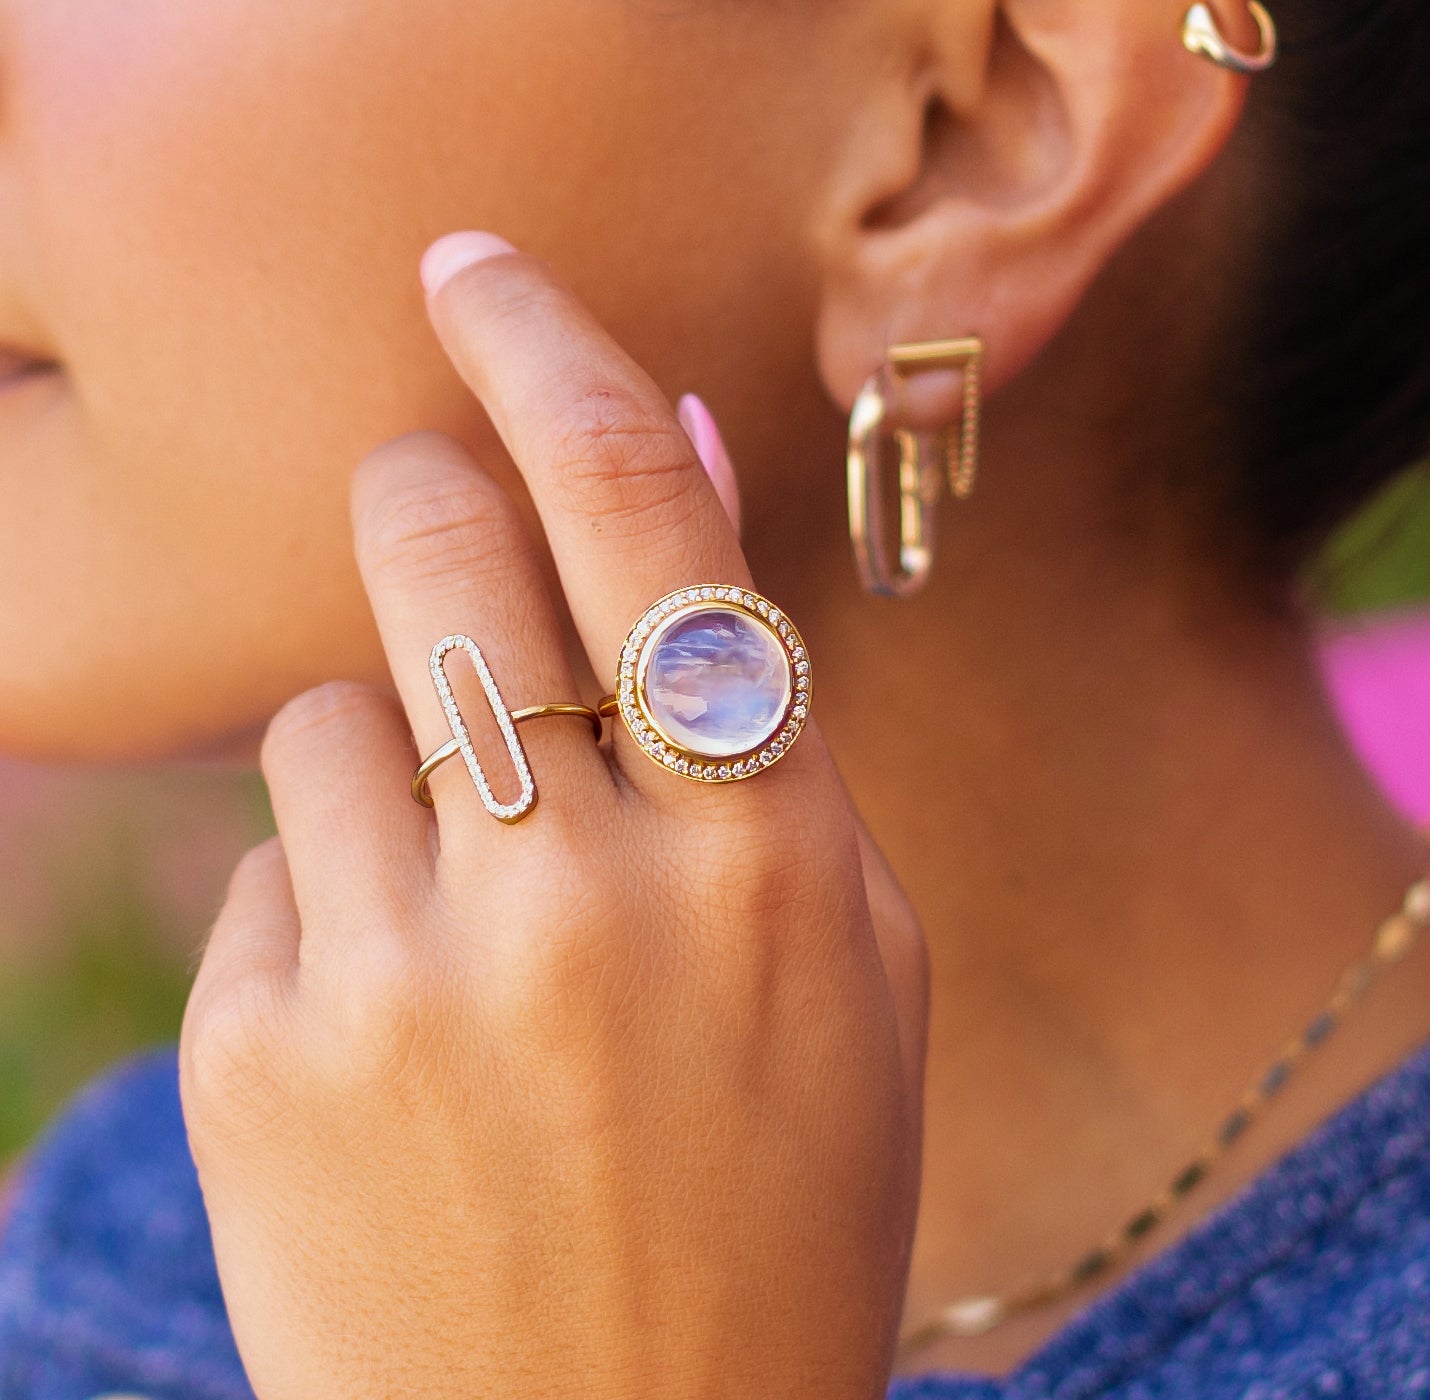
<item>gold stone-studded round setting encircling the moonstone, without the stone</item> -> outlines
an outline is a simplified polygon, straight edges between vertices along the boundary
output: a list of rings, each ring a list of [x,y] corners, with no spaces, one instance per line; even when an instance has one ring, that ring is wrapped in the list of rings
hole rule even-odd
[[[729,756],[709,758],[671,742],[646,708],[644,676],[646,649],[669,631],[669,623],[689,612],[721,611],[742,613],[762,626],[784,649],[789,664],[789,699],[771,726],[769,736],[752,749]],[[739,782],[754,778],[779,762],[799,738],[809,718],[812,684],[809,654],[795,625],[768,598],[722,583],[702,583],[666,593],[636,622],[621,649],[616,676],[616,702],[621,718],[654,764],[692,782]]]

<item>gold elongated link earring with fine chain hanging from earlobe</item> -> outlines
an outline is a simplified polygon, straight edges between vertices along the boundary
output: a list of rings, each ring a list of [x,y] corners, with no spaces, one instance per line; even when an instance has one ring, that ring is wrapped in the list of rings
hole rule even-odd
[[[978,478],[978,433],[982,412],[984,342],[924,340],[895,345],[849,415],[849,541],[865,589],[879,598],[907,598],[927,582],[934,566],[934,512],[947,470],[954,496],[967,501]],[[962,369],[964,403],[957,432],[915,432],[889,428],[892,380],[931,369]],[[899,563],[892,568],[885,552],[884,493],[879,463],[881,439],[892,436],[898,448]],[[942,469],[930,459],[942,456]]]

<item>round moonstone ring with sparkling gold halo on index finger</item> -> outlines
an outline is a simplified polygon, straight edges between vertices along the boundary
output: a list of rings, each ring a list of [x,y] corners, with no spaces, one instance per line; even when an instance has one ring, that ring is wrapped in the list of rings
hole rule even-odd
[[[795,625],[745,588],[682,588],[621,651],[619,714],[641,751],[695,782],[738,782],[778,762],[809,718],[809,656]]]

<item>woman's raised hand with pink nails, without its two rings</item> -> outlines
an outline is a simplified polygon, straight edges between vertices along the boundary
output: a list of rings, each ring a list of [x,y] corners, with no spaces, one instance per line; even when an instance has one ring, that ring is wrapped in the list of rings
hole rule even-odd
[[[612,676],[652,602],[748,568],[655,385],[542,263],[468,237],[495,256],[430,310]],[[180,1045],[257,1394],[881,1394],[924,947],[819,734],[705,787],[546,719],[528,821],[460,761],[433,815],[408,795],[412,735],[449,738],[433,642],[476,638],[513,706],[575,699],[558,612],[446,438],[373,453],[353,513],[402,704],[329,685],[273,721],[280,838],[233,877]]]

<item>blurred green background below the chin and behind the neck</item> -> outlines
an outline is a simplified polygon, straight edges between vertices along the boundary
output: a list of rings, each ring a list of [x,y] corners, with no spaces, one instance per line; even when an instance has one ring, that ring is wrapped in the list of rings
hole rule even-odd
[[[1430,470],[1354,521],[1307,586],[1330,615],[1430,601]],[[177,1035],[226,874],[272,829],[252,774],[0,766],[0,1165],[83,1080]]]

